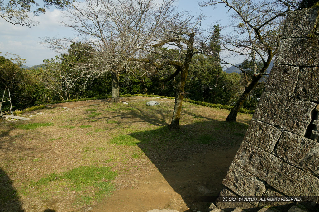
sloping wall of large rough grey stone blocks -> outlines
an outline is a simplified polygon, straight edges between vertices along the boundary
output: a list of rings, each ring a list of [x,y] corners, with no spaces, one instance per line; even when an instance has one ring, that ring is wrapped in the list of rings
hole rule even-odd
[[[220,196],[319,196],[318,10],[288,14],[274,67]]]

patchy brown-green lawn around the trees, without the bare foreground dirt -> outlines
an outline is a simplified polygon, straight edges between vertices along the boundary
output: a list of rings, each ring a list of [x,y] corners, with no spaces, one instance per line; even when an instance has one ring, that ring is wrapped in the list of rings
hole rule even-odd
[[[106,103],[56,112],[49,127],[41,123],[51,120],[49,110],[28,122],[0,125],[0,187],[5,188],[0,197],[8,200],[0,198],[0,205],[15,211],[7,208],[57,200],[65,211],[95,204],[114,188],[132,187],[161,164],[209,149],[236,148],[251,119],[238,114],[237,123],[225,122],[229,111],[185,102],[181,129],[169,130],[174,101],[164,100],[155,108],[141,99],[129,107]],[[99,118],[90,121],[88,115]]]

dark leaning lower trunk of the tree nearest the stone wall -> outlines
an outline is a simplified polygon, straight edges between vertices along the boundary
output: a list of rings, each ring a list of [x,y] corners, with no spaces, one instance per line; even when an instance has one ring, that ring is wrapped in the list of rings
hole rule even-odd
[[[259,79],[261,78],[261,75],[257,75],[256,77],[253,77],[252,82],[245,88],[245,91],[241,95],[241,97],[236,102],[235,106],[230,110],[229,115],[226,118],[226,121],[233,121],[236,122],[237,113],[239,112],[239,109],[241,108],[244,101],[247,99],[250,91],[253,90],[253,88],[258,83]]]

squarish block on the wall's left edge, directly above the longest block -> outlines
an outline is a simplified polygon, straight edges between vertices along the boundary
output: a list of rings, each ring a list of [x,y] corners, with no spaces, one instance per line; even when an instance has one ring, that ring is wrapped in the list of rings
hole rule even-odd
[[[282,130],[270,124],[252,119],[246,131],[244,141],[271,153],[281,135],[281,132]]]

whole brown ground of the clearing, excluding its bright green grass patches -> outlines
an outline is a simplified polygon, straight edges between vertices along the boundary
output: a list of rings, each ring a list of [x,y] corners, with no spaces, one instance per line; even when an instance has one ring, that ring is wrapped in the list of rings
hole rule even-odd
[[[145,106],[154,100],[161,105]],[[0,188],[7,182],[12,187],[8,191],[19,193],[12,199],[19,212],[207,211],[223,187],[251,116],[239,114],[239,122],[228,123],[224,121],[227,110],[185,103],[181,129],[171,132],[165,126],[174,99],[136,96],[120,101],[129,104],[110,104],[110,99],[51,104],[22,114],[32,120],[0,125]],[[34,130],[23,125],[49,121],[54,124]],[[139,143],[110,143],[119,135]],[[69,190],[63,180],[43,188],[28,186],[50,173],[79,166],[119,171],[111,194],[81,206],[75,199],[85,191]],[[33,193],[33,189],[37,190]],[[92,192],[91,188],[87,194]]]

